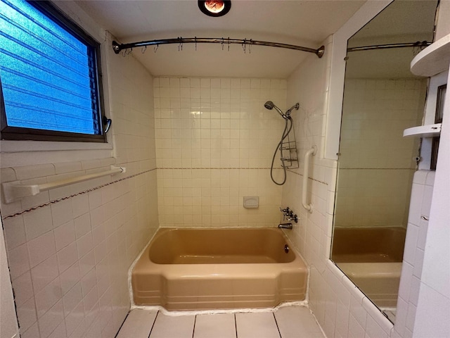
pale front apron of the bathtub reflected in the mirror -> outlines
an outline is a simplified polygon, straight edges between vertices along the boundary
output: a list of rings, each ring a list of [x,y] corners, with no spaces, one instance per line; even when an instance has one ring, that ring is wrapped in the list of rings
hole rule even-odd
[[[338,267],[379,308],[395,308],[401,263],[338,263]]]

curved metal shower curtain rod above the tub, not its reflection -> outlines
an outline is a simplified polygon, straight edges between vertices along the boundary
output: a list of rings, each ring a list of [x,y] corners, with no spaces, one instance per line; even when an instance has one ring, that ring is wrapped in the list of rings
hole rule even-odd
[[[278,42],[266,42],[266,41],[257,41],[252,39],[230,39],[224,37],[177,37],[176,39],[160,39],[160,40],[149,40],[149,41],[141,41],[141,42],[131,42],[129,44],[119,44],[118,42],[113,41],[113,50],[115,54],[119,54],[120,51],[124,49],[133,49],[135,47],[144,47],[144,46],[159,46],[160,44],[242,44],[244,47],[246,45],[256,44],[258,46],[270,46],[270,47],[278,47],[285,49],[295,49],[297,51],[307,51],[308,53],[314,53],[316,56],[321,58],[323,53],[325,52],[325,46],[320,46],[318,49],[307,48],[303,46],[295,46],[293,44],[278,44]],[[244,49],[245,50],[245,49]]]

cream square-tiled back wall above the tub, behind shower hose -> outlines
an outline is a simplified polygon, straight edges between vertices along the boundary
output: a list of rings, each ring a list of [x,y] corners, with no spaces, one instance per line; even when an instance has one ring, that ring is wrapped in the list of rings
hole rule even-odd
[[[270,179],[286,81],[156,77],[155,136],[162,227],[276,226],[281,187]],[[279,156],[274,176],[281,180]],[[259,196],[259,208],[243,208]]]

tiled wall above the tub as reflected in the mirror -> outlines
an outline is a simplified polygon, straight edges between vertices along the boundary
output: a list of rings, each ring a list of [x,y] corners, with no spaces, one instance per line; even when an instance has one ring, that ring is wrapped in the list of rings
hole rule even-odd
[[[406,227],[426,80],[345,80],[338,227]]]

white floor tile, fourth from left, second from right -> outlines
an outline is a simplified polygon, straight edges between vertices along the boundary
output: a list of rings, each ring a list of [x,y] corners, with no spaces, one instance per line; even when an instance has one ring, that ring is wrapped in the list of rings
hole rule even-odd
[[[280,338],[274,313],[236,313],[238,338]]]

